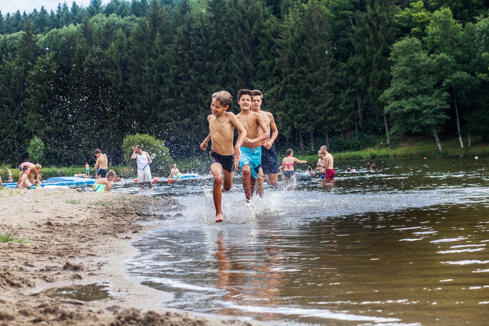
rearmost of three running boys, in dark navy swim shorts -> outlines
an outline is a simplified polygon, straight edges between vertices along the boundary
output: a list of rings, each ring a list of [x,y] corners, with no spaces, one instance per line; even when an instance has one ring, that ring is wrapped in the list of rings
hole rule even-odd
[[[251,100],[251,110],[262,115],[265,126],[267,127],[267,134],[270,135],[270,129],[272,135],[270,139],[262,141],[262,168],[258,173],[258,182],[256,184],[256,192],[258,195],[263,196],[263,176],[267,183],[272,186],[277,186],[277,175],[278,175],[278,156],[275,148],[273,147],[273,142],[278,136],[277,126],[275,125],[275,120],[270,112],[263,111],[261,109],[263,103],[263,94],[261,91],[255,89],[251,91],[253,95],[253,100]],[[261,134],[261,130],[260,130]]]

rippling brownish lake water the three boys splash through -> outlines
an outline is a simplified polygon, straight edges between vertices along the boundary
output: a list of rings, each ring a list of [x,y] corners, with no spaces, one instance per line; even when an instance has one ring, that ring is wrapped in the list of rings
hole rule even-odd
[[[119,184],[185,205],[133,243],[127,270],[173,293],[167,307],[274,325],[488,325],[488,161],[341,164],[333,184],[266,186],[251,204],[238,175],[220,224],[209,176],[142,192]]]

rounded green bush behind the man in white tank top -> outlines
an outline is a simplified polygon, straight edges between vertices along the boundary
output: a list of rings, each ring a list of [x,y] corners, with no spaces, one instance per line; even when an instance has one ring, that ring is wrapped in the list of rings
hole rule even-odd
[[[173,166],[173,158],[170,155],[168,148],[165,146],[165,143],[153,136],[141,133],[124,137],[122,149],[127,164],[136,168],[136,160],[131,159],[131,155],[133,154],[132,148],[136,145],[140,145],[141,149],[150,155],[156,153],[155,159],[150,165],[152,171],[168,172],[171,170],[171,167]]]

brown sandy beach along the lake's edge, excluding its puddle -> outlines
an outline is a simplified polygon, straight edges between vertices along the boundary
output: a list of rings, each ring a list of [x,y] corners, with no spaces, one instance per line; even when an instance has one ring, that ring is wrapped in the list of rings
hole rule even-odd
[[[19,228],[23,243],[0,243],[0,325],[262,325],[165,309],[172,296],[133,282],[124,260],[130,242],[178,218],[178,202],[72,189],[0,190],[0,234]],[[177,215],[177,216],[176,216]],[[47,289],[110,284],[110,297],[79,301],[49,297]]]

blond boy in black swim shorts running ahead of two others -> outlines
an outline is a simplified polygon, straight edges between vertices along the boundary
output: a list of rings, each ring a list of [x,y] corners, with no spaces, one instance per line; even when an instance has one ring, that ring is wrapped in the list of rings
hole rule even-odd
[[[233,186],[235,160],[239,161],[241,158],[240,146],[246,138],[246,130],[236,116],[232,112],[226,111],[231,100],[231,94],[225,90],[212,94],[212,114],[207,116],[210,133],[200,144],[200,149],[205,151],[207,150],[207,143],[212,138],[209,156],[211,173],[214,176],[212,197],[216,207],[216,222],[222,222],[222,192],[229,191]],[[234,127],[238,130],[239,137],[233,148]],[[222,178],[222,174],[224,178]]]

